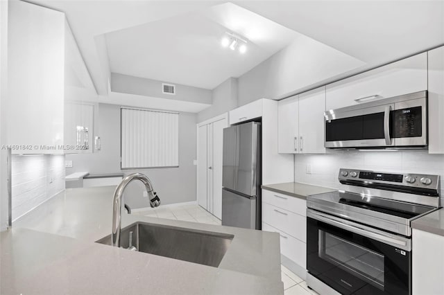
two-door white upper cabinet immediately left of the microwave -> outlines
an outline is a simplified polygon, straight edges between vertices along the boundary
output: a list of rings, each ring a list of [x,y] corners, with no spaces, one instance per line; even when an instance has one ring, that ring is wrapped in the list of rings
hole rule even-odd
[[[280,100],[278,150],[282,154],[323,154],[325,87]]]

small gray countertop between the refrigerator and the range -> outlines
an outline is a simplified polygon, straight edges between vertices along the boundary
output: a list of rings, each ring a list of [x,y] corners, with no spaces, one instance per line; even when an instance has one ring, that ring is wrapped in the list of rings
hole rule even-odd
[[[263,185],[264,190],[271,190],[275,193],[282,193],[291,197],[307,199],[309,195],[318,195],[323,193],[334,192],[333,188],[323,188],[322,186],[311,186],[309,184],[300,184],[298,182],[287,182],[284,184],[267,184]]]

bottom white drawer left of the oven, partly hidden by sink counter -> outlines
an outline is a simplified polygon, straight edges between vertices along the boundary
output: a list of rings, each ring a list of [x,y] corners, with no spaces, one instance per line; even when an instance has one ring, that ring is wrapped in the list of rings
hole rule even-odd
[[[293,260],[303,269],[307,268],[307,244],[287,235],[275,227],[262,222],[262,231],[273,231],[280,235],[280,253]]]

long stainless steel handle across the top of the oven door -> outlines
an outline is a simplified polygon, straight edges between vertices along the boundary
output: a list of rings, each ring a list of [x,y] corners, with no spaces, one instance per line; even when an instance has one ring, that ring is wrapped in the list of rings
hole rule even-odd
[[[411,239],[408,238],[403,238],[398,235],[393,235],[391,233],[372,229],[369,226],[364,226],[355,222],[343,220],[342,218],[313,211],[311,209],[307,209],[307,217],[311,217],[314,220],[339,227],[340,229],[344,229],[345,231],[357,233],[358,235],[362,235],[369,239],[383,242],[384,244],[389,244],[393,247],[398,247],[405,251],[411,251]]]

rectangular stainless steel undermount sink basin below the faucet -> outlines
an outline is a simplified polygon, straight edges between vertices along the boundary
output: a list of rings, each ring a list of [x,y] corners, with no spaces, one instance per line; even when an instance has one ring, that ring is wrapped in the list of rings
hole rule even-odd
[[[121,230],[121,247],[128,248],[130,231],[139,252],[218,267],[234,235],[176,226],[136,222]],[[96,241],[111,245],[111,235]]]

